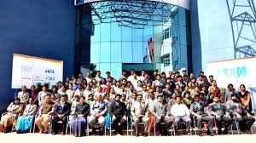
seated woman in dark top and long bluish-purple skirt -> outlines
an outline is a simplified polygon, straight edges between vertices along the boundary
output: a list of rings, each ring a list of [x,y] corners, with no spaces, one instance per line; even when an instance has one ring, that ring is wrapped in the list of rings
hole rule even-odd
[[[74,136],[82,136],[87,128],[87,116],[90,112],[90,106],[85,102],[84,96],[80,97],[80,103],[76,106],[75,115],[71,123]]]

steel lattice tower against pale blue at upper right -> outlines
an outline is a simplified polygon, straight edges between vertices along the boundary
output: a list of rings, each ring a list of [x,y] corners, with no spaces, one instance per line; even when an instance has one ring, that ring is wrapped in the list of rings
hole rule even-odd
[[[235,59],[256,56],[256,0],[226,0]]]

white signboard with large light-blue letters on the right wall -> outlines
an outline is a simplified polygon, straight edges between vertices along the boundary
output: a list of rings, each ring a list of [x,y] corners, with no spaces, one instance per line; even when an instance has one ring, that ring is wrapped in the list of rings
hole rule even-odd
[[[256,58],[208,62],[207,75],[212,75],[222,88],[227,88],[229,83],[235,88],[241,83],[246,87],[256,87],[255,64]]]

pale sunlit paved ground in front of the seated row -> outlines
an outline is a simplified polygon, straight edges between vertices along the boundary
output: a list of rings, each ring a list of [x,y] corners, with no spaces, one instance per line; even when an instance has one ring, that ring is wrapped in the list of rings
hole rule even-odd
[[[51,135],[51,134],[2,134],[0,133],[1,143],[84,143],[84,142],[99,142],[99,143],[148,143],[148,142],[185,142],[189,143],[203,143],[203,142],[223,142],[223,143],[241,143],[241,142],[255,142],[256,134],[230,134],[230,135],[215,135],[215,136],[195,136],[195,135],[182,135],[182,136],[150,136],[150,137],[134,137],[134,136],[85,136],[76,138],[71,135]]]

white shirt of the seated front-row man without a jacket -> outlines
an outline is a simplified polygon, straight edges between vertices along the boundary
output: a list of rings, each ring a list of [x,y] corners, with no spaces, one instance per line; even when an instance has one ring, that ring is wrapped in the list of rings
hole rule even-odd
[[[190,115],[189,108],[184,104],[175,104],[172,106],[171,114],[177,117]]]

